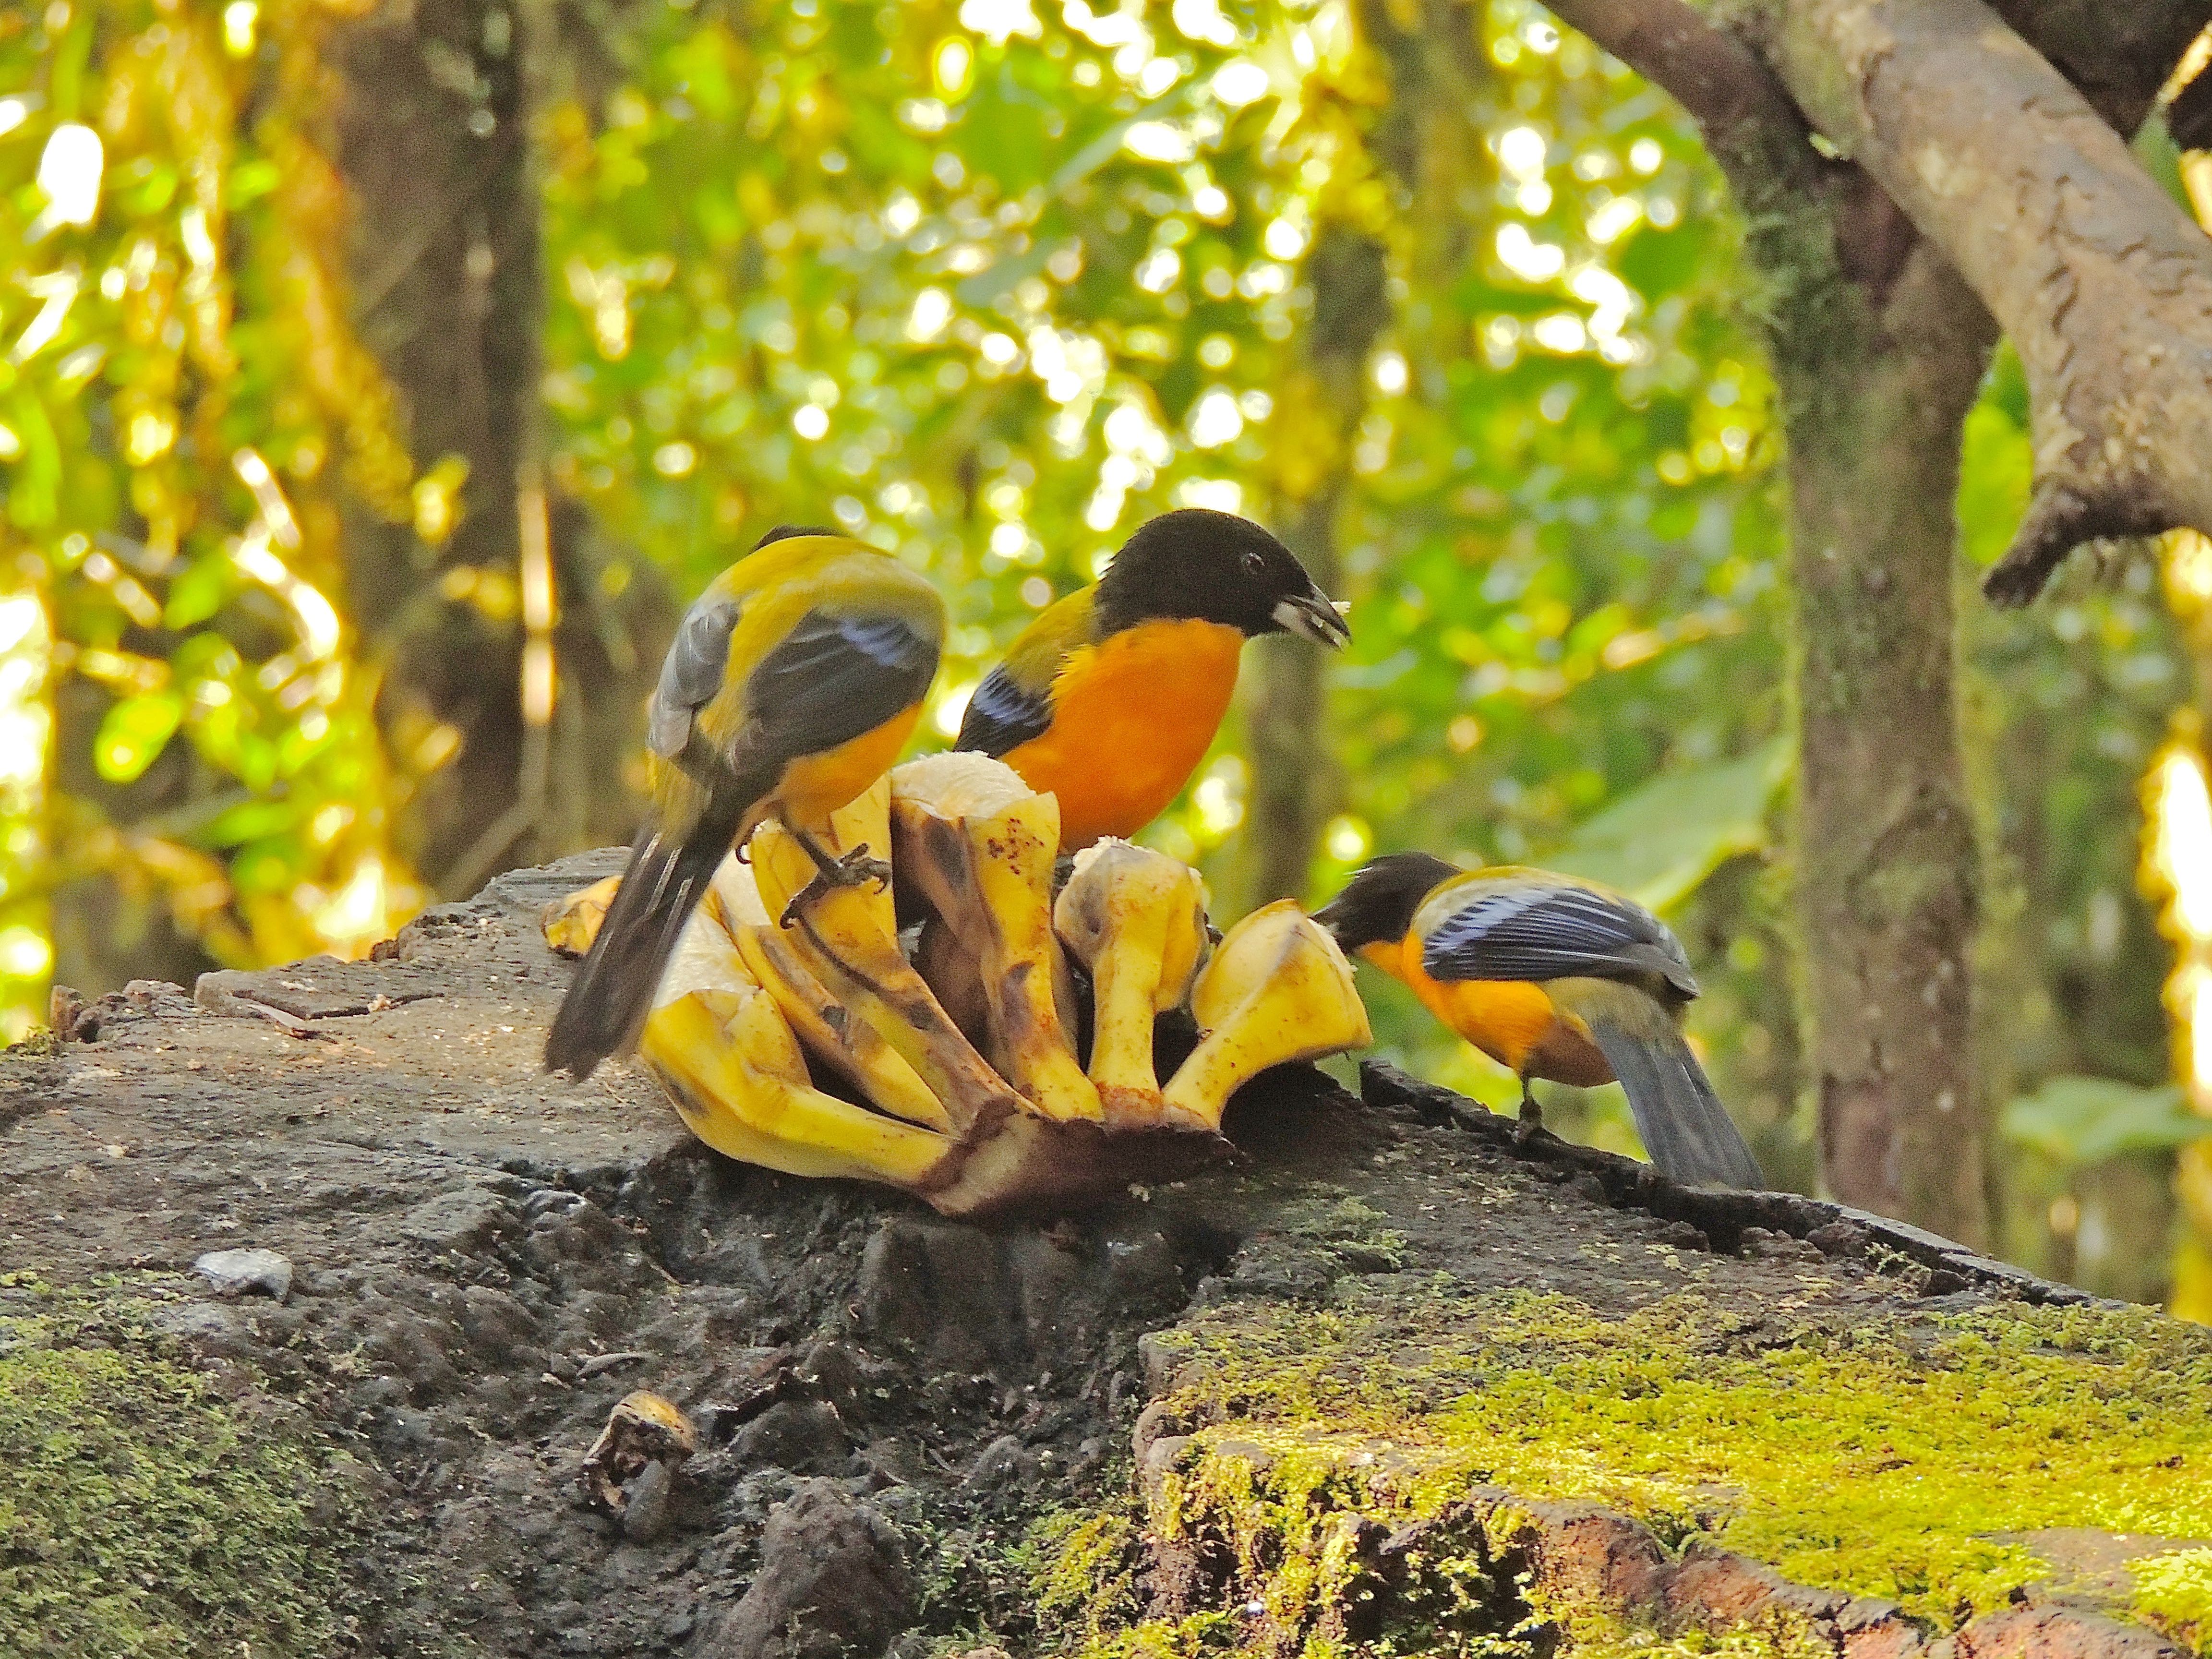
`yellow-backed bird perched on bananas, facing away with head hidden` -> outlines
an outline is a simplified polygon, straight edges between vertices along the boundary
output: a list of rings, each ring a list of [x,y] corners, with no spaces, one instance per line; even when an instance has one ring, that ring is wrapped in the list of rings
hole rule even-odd
[[[584,1079],[637,1042],[692,907],[765,818],[814,854],[821,880],[889,878],[867,849],[834,860],[807,830],[898,757],[942,639],[936,588],[834,531],[779,526],[714,577],[661,664],[646,710],[653,803],[553,1015],[546,1071]]]

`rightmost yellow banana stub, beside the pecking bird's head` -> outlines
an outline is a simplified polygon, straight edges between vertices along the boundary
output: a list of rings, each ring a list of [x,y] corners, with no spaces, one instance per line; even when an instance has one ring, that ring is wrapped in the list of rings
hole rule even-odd
[[[1352,964],[1290,898],[1252,911],[1223,936],[1190,987],[1190,1015],[1206,1035],[1161,1095],[1168,1110],[1214,1130],[1230,1095],[1270,1066],[1374,1042]]]

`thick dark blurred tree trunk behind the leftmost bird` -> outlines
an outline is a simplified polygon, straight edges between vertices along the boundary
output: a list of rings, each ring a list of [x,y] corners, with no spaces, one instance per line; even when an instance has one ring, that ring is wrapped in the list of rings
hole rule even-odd
[[[619,763],[637,748],[672,626],[653,580],[602,615],[606,553],[542,478],[546,296],[529,128],[591,51],[542,0],[387,0],[332,46],[356,325],[400,394],[416,467],[467,465],[449,540],[431,546],[416,526],[369,515],[347,526],[354,608],[383,664],[396,748],[436,726],[460,734],[407,807],[407,852],[447,894],[628,838]],[[440,593],[447,577],[460,599]]]

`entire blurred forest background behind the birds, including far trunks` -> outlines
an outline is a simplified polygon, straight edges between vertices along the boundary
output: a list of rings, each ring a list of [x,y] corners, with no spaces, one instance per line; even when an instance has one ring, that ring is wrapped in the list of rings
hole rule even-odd
[[[2188,201],[2157,119],[2137,155]],[[1254,648],[1150,841],[1228,914],[1394,847],[1635,891],[1812,1188],[1796,987],[1836,942],[1790,902],[1741,239],[1677,106],[1526,0],[11,9],[4,1033],[49,982],[361,953],[626,838],[675,615],[774,522],[942,584],[933,745],[1037,608],[1208,504],[1349,597],[1354,646]],[[2212,549],[2110,544],[1991,611],[2028,471],[2000,349],[1958,500],[1958,1110],[2002,1254],[2208,1318]],[[1515,1095],[1365,989],[1391,1057]],[[1632,1146],[1610,1093],[1548,1110]]]

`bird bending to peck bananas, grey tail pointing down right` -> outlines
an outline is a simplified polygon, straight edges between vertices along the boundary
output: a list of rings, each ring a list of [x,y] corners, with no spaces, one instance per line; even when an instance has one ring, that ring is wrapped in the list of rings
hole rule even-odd
[[[1597,883],[1425,852],[1369,863],[1316,916],[1347,956],[1522,1079],[1619,1082],[1652,1164],[1677,1181],[1761,1188],[1759,1161],[1681,1035],[1697,975],[1666,922]]]

